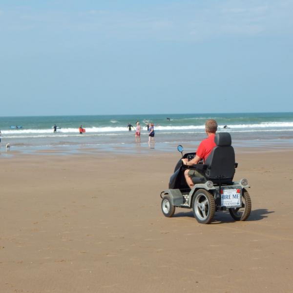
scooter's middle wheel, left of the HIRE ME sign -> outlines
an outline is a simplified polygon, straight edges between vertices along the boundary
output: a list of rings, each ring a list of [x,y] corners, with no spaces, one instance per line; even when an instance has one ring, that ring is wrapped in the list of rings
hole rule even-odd
[[[209,224],[216,210],[212,194],[206,189],[198,189],[193,195],[192,210],[198,223]]]

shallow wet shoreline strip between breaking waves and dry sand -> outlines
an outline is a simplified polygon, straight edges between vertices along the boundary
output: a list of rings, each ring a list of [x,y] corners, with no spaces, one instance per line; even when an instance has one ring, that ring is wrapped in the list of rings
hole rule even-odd
[[[155,142],[148,145],[147,142],[142,143],[114,143],[114,144],[65,144],[65,145],[47,145],[47,146],[10,146],[10,150],[5,149],[4,143],[1,141],[0,155],[14,156],[18,154],[56,154],[56,155],[75,155],[83,153],[123,153],[123,154],[148,154],[150,151],[158,151],[162,153],[177,152],[177,145],[184,146],[186,152],[196,150],[199,141],[182,141],[182,142]],[[288,150],[293,146],[293,138],[276,138],[266,140],[234,140],[232,146],[235,152],[268,152],[274,150]],[[0,156],[1,157],[1,156]]]

